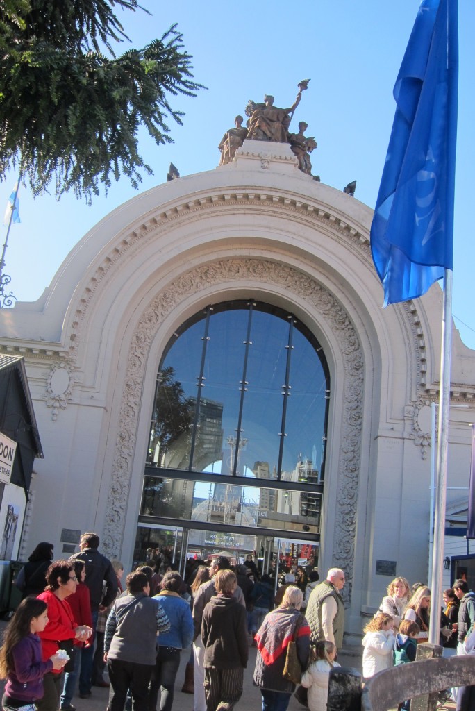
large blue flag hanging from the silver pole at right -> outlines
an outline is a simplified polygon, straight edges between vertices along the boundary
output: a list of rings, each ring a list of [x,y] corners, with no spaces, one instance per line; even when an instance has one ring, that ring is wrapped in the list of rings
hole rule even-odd
[[[452,269],[457,90],[457,0],[422,0],[371,225],[385,306],[422,296]]]

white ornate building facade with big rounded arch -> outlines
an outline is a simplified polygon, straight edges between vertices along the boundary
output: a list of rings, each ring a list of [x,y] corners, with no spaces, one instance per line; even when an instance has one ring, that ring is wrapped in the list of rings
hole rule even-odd
[[[239,533],[244,512],[247,533],[262,533],[264,547],[275,538],[309,542],[320,547],[321,572],[343,567],[347,631],[355,634],[361,631],[361,612],[379,604],[395,573],[411,582],[427,579],[429,405],[439,390],[442,292],[435,285],[422,299],[382,309],[370,256],[371,218],[362,203],[301,173],[289,146],[245,141],[233,163],[158,186],[114,210],[70,252],[41,299],[0,313],[0,351],[24,355],[45,456],[36,463],[31,502],[22,512],[27,525],[18,557],[40,540],[54,542],[56,554],[62,547],[66,554],[74,550],[79,531],[96,530],[102,550],[130,567],[137,558],[138,530],[141,535],[178,531],[181,538],[175,540],[185,550],[189,528]],[[196,356],[198,372],[193,373],[201,378],[201,394],[187,390],[177,396],[186,404],[181,415],[189,416],[188,424],[177,425],[166,445],[164,437],[153,439],[163,385],[160,377],[157,385],[157,373],[163,375],[164,364],[171,363],[166,359],[176,344],[184,343],[196,324],[208,323],[213,309],[241,314],[249,304],[265,314],[263,319],[296,324],[320,364],[320,385],[312,398],[320,409],[311,411],[324,442],[317,457],[317,438],[307,438],[306,451],[299,449],[297,429],[308,422],[303,405],[294,411],[302,416],[301,427],[292,429],[289,413],[282,414],[274,464],[271,456],[260,456],[263,446],[252,449],[267,437],[259,432],[260,401],[253,400],[248,411],[242,402],[256,378],[267,378],[262,358],[254,382],[248,385],[244,375],[237,388],[237,427],[221,414],[227,395],[221,397],[217,387],[203,405],[199,387],[207,377],[212,380],[204,347],[213,338],[207,331],[200,331],[203,353]],[[218,336],[227,328],[224,319]],[[244,341],[252,345],[252,339]],[[269,348],[271,341],[269,332]],[[292,348],[287,342],[284,356]],[[466,486],[475,355],[457,331],[453,348],[452,403],[466,407],[452,410],[448,479],[449,486]],[[181,384],[186,348],[183,353]],[[227,353],[221,364],[229,360]],[[247,360],[243,363],[246,368]],[[308,367],[308,375],[302,365],[295,377],[313,392],[316,371]],[[290,380],[279,382],[284,400],[289,387]],[[262,390],[271,400],[267,385]],[[208,415],[215,413],[214,424],[205,405]],[[251,422],[247,432],[241,427],[245,417]],[[193,454],[189,465],[176,464],[178,454],[181,461],[183,451],[198,447],[206,427],[210,441],[218,437],[218,445],[210,445],[214,453],[208,459],[203,455],[198,468]],[[220,432],[240,442],[233,450],[235,440],[228,439],[230,474],[223,478],[219,506],[213,504],[219,515],[200,521],[193,518],[196,494],[189,486],[199,481],[215,486],[223,476],[213,468],[218,459],[225,461]],[[181,442],[179,447],[173,449],[171,439]],[[240,469],[238,460],[244,461],[246,451],[246,467]],[[313,462],[315,476],[292,477],[305,457]],[[265,478],[257,470],[265,471]],[[256,482],[263,487],[260,495],[250,495],[252,505],[242,495],[248,491],[246,477],[251,488]],[[233,520],[226,518],[228,491],[240,501]],[[292,494],[287,509],[272,503],[282,499],[282,491]],[[150,498],[144,503],[150,492],[161,498],[159,505]],[[302,494],[318,502],[318,521],[298,503],[299,510],[295,503],[292,509],[292,497]],[[201,509],[206,496],[198,496]],[[449,491],[449,502],[453,498]],[[304,515],[309,525],[302,523]]]

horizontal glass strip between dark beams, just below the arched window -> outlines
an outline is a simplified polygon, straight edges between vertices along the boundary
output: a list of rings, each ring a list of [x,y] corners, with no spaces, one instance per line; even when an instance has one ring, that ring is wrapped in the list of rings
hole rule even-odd
[[[320,530],[321,495],[146,476],[140,513],[145,516],[272,528]]]

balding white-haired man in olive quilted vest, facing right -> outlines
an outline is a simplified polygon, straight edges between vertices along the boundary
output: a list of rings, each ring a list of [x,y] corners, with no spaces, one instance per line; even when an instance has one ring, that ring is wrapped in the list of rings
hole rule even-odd
[[[312,644],[326,639],[333,642],[337,649],[343,646],[345,608],[340,591],[344,584],[343,570],[330,568],[326,580],[312,590],[305,611]]]

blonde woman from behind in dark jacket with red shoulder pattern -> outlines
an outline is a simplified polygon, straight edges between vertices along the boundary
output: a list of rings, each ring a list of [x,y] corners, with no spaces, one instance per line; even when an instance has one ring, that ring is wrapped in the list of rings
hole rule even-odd
[[[310,651],[310,628],[300,607],[304,596],[289,586],[277,609],[265,616],[256,634],[257,658],[254,681],[262,694],[262,711],[285,711],[295,684],[284,679],[287,646],[294,641],[301,668],[306,669]]]

